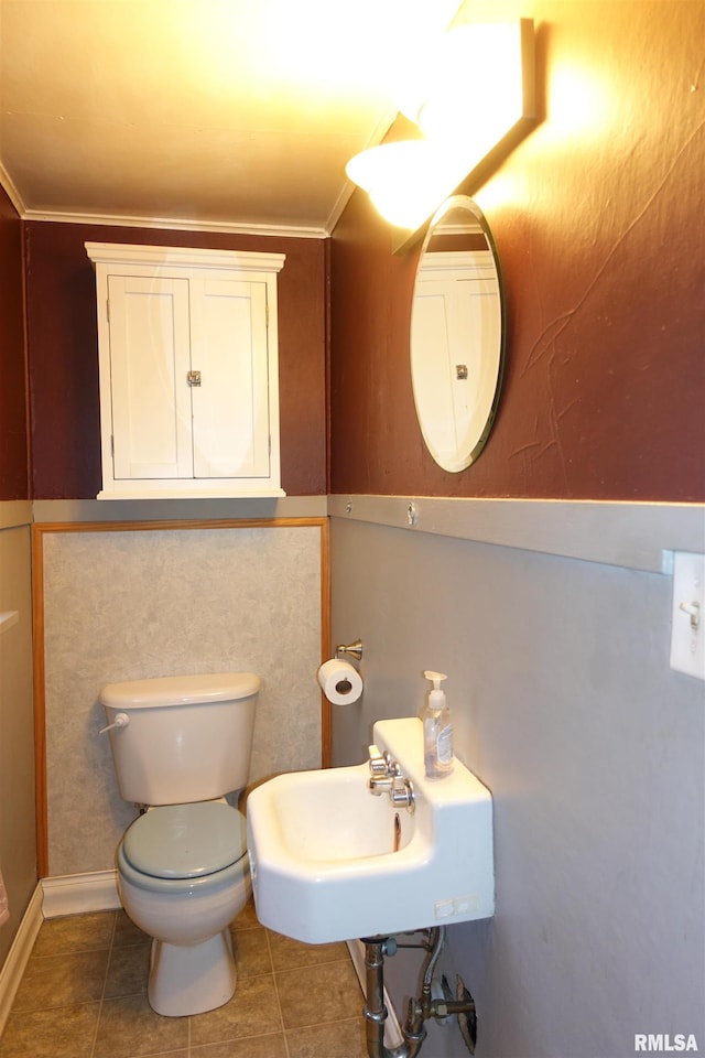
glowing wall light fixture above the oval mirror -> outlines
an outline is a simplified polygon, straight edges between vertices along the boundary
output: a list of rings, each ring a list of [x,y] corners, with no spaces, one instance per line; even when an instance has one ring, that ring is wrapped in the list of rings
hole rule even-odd
[[[449,30],[414,83],[400,90],[399,109],[423,138],[356,154],[348,177],[390,224],[415,231],[460,183],[473,193],[490,155],[525,134],[533,83],[531,19]]]

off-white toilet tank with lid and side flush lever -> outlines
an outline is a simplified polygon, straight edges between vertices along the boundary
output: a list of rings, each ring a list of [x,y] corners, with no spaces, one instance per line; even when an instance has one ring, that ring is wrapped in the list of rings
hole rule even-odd
[[[253,672],[170,676],[104,687],[99,700],[108,724],[118,723],[110,730],[110,743],[124,800],[178,805],[242,789],[259,689]]]

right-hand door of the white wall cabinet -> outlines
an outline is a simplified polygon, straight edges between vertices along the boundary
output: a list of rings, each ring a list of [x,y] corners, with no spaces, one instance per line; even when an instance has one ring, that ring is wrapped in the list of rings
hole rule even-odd
[[[270,475],[267,283],[191,279],[194,476]]]

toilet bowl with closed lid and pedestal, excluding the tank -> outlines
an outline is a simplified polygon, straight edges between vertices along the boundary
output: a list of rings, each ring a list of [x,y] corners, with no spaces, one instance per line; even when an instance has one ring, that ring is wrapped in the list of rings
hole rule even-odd
[[[124,910],[152,937],[152,1008],[183,1016],[227,1003],[228,926],[251,893],[245,817],[223,801],[152,808],[123,834],[117,867]]]

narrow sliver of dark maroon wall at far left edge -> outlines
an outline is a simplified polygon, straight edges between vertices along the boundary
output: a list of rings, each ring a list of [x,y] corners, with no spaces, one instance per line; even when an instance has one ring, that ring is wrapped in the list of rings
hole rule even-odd
[[[22,222],[0,187],[0,500],[28,499]]]

